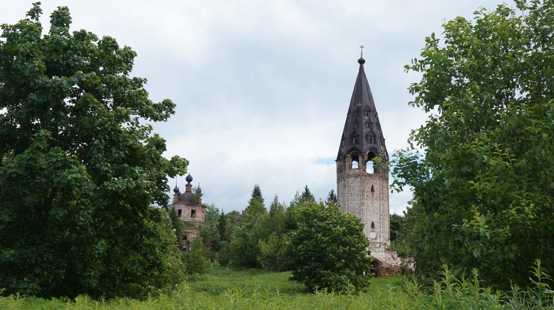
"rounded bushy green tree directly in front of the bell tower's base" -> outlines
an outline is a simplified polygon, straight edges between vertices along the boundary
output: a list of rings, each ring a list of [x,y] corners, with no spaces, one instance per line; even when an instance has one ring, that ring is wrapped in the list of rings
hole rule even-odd
[[[291,281],[308,288],[356,290],[370,285],[372,258],[360,218],[343,213],[337,206],[307,202],[296,211],[298,229],[289,232],[285,267],[293,272]]]

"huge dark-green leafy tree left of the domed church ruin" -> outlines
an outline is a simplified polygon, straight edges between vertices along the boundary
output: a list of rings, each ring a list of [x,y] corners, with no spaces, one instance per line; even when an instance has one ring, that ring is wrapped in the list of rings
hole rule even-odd
[[[167,160],[147,122],[153,103],[130,77],[136,53],[116,40],[70,33],[69,9],[43,35],[35,3],[0,40],[0,287],[37,296],[141,296],[171,287],[179,261]]]

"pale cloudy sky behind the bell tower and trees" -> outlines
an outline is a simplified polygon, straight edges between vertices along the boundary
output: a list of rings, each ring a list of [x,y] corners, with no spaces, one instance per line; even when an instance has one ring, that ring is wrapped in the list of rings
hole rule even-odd
[[[499,3],[43,0],[42,22],[48,28],[50,13],[68,6],[74,30],[110,35],[137,51],[133,75],[148,79],[151,99],[177,104],[167,123],[155,124],[165,155],[186,157],[203,202],[228,212],[247,206],[255,184],[267,204],[275,194],[288,203],[305,185],[316,198],[336,188],[360,45],[388,152],[406,147],[425,115],[408,106],[407,87],[419,77],[403,66],[445,20]],[[3,3],[0,23],[17,22],[30,7]],[[184,177],[177,182],[184,188]],[[392,194],[391,213],[410,198]]]

